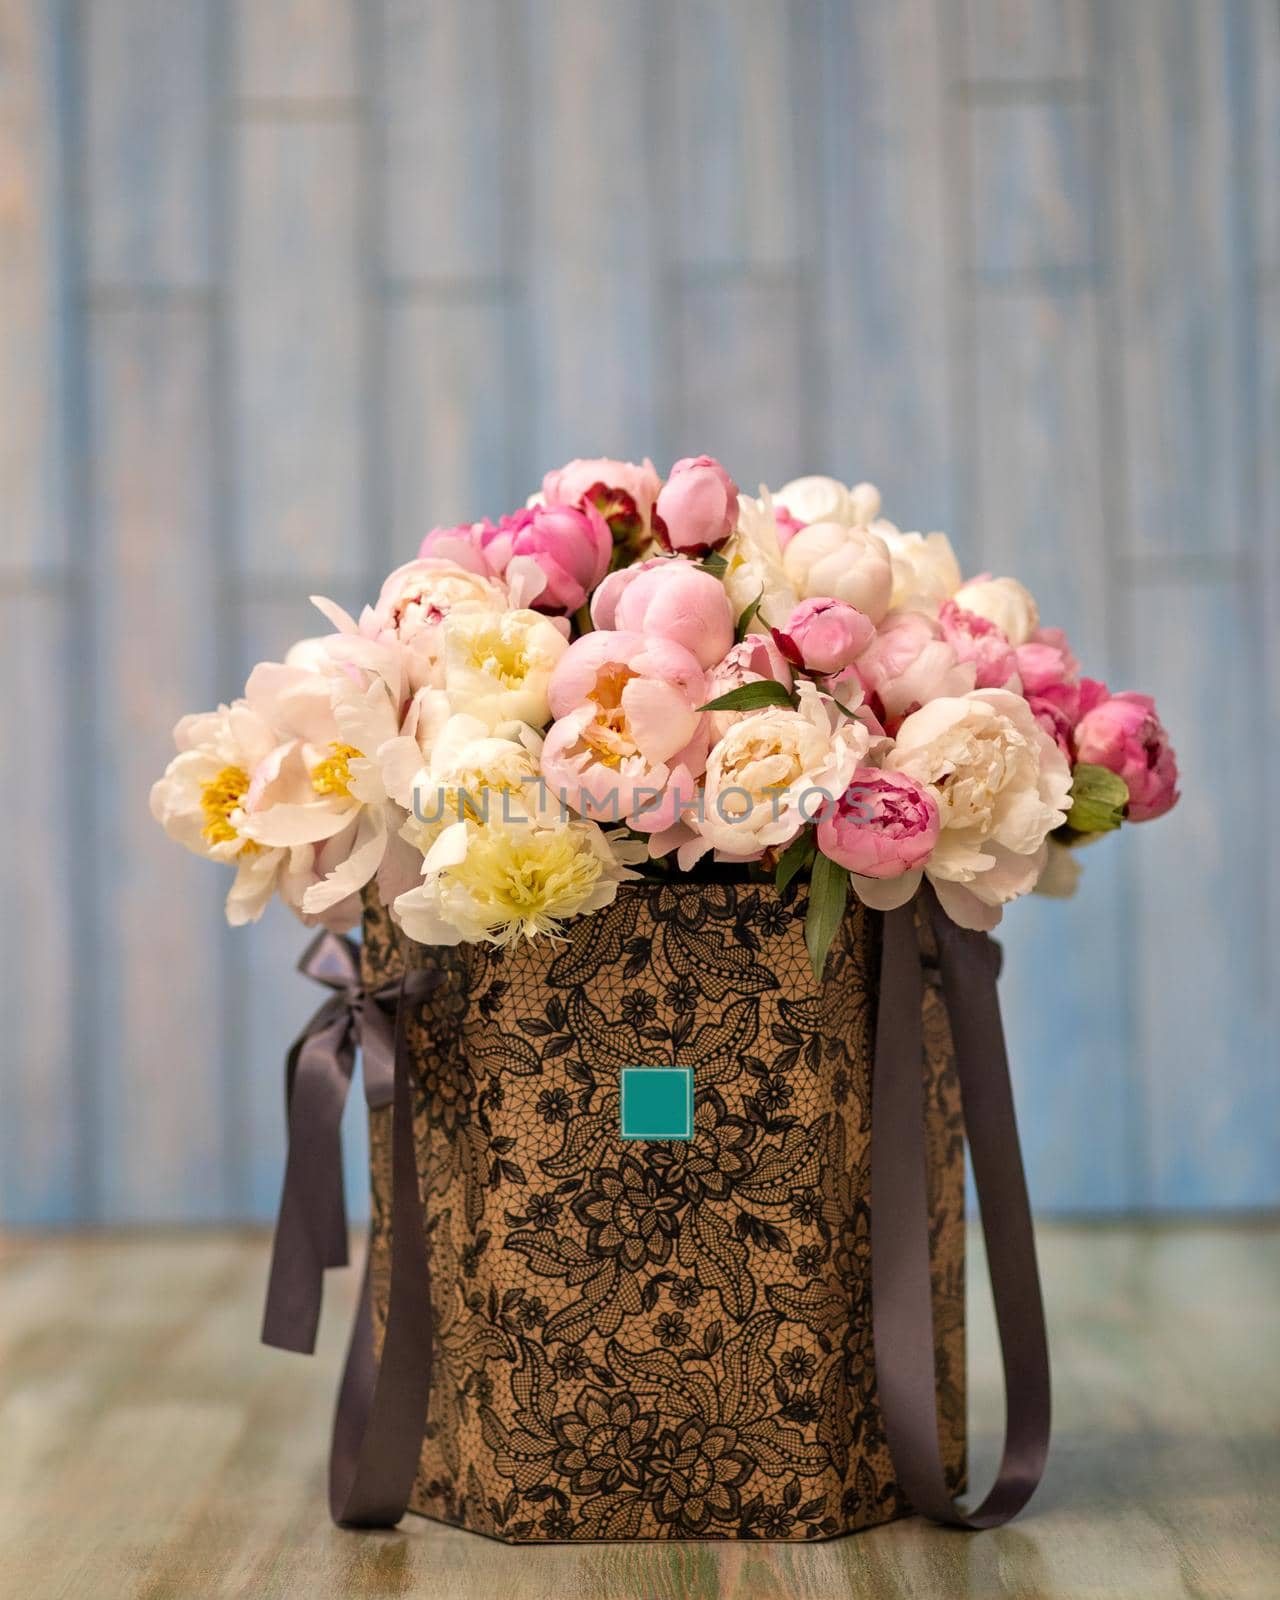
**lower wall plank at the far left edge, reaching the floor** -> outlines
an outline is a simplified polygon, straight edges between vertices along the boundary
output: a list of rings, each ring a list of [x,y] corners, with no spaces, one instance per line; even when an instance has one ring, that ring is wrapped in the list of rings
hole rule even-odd
[[[24,1227],[78,1221],[91,1198],[77,1139],[94,1131],[75,1061],[72,906],[83,902],[72,840],[99,795],[70,768],[86,752],[74,752],[64,715],[69,613],[62,590],[0,592],[0,744],[14,774],[0,866],[0,1218]]]

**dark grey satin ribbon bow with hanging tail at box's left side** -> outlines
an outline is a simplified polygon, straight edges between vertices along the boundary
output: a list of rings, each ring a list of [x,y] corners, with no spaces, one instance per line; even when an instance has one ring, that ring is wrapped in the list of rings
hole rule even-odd
[[[309,1355],[315,1349],[325,1267],[347,1264],[341,1128],[357,1046],[370,1109],[389,1106],[400,1002],[419,998],[440,976],[413,971],[366,990],[357,946],[336,933],[312,939],[298,970],[333,994],[293,1042],[285,1062],[288,1162],[262,1342]]]

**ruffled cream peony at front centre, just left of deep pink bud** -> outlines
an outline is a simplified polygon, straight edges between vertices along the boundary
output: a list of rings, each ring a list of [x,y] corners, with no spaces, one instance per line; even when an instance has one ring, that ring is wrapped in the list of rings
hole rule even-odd
[[[682,845],[682,867],[706,850],[750,858],[787,845],[824,798],[848,789],[870,733],[808,680],[797,690],[797,709],[750,712],[712,747],[698,806],[685,816],[696,837]]]

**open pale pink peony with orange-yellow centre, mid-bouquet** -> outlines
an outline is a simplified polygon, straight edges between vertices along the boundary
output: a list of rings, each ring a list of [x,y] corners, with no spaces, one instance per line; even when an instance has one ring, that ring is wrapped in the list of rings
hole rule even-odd
[[[707,758],[707,677],[670,638],[586,634],[547,690],[555,722],[542,744],[552,798],[597,822],[670,827]]]

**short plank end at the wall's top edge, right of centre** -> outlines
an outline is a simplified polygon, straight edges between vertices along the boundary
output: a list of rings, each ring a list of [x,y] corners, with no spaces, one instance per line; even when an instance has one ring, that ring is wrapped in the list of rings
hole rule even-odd
[[[1091,0],[965,0],[965,77],[982,83],[1086,78]]]

